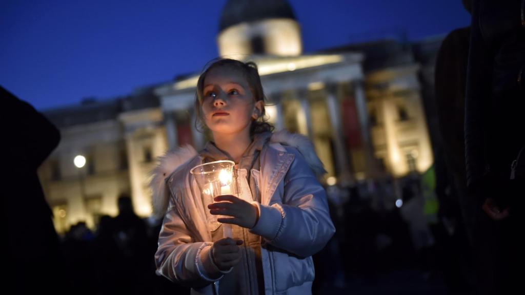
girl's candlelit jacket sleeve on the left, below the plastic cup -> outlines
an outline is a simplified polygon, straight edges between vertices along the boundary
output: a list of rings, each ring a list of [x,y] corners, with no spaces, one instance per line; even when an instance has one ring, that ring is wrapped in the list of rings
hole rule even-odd
[[[211,252],[213,243],[193,240],[172,197],[164,215],[158,245],[156,274],[181,285],[200,289],[231,271],[220,271],[215,266]]]

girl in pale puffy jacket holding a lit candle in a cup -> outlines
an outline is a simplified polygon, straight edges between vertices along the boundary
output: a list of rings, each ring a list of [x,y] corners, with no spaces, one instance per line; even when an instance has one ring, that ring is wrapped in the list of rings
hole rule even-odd
[[[164,216],[156,272],[192,294],[308,294],[312,255],[335,232],[316,178],[323,165],[304,136],[272,133],[253,62],[220,59],[199,77],[195,111],[213,142],[161,157],[151,182]],[[192,167],[231,160],[237,196],[204,207]],[[208,222],[212,215],[223,215]],[[223,238],[230,224],[233,238]],[[219,287],[220,282],[220,287]]]

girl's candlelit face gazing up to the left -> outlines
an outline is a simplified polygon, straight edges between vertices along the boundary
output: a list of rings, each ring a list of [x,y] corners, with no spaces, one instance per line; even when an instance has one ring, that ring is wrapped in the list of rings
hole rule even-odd
[[[251,118],[262,110],[243,73],[223,66],[208,71],[204,79],[202,111],[207,127],[218,134],[249,134]]]

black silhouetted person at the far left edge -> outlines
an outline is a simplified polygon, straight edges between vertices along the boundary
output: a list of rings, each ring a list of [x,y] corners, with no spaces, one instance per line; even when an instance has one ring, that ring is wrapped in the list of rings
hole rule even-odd
[[[66,292],[53,213],[37,168],[60,141],[58,129],[27,102],[0,87],[2,126],[2,233],[4,290],[13,293]]]

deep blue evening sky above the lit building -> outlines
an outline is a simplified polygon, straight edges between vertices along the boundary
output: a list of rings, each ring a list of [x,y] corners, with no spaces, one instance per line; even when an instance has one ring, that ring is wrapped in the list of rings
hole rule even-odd
[[[305,53],[467,26],[460,0],[289,0]],[[39,110],[198,72],[218,55],[226,0],[0,2],[0,85]]]

